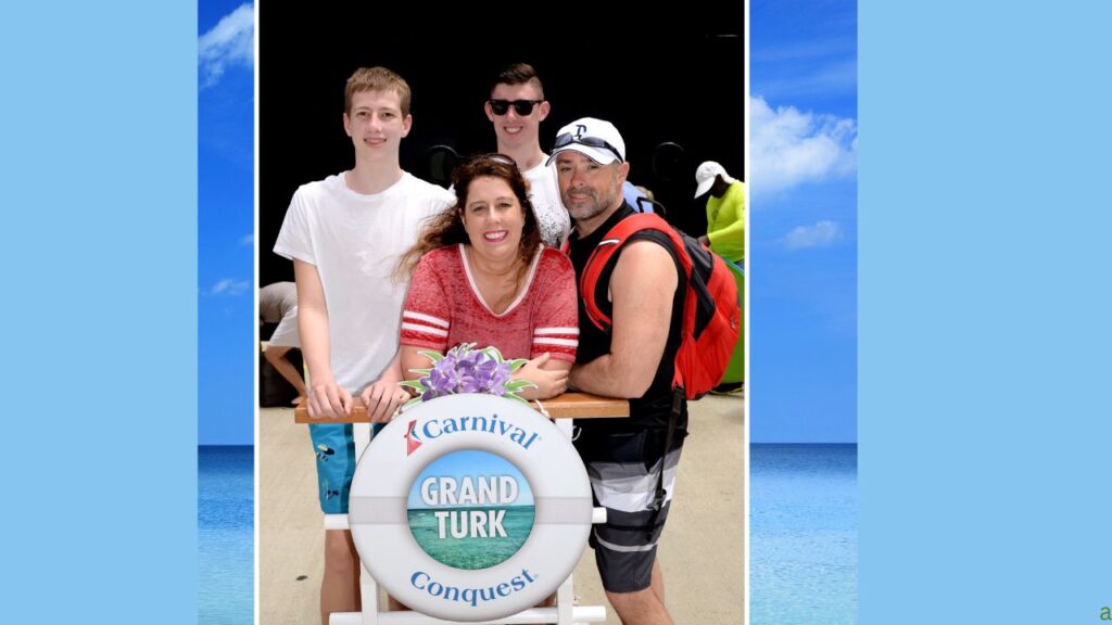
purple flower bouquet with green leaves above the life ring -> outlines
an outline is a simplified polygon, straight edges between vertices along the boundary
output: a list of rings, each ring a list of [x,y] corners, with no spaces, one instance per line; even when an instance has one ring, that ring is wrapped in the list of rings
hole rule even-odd
[[[420,374],[420,378],[401,383],[401,386],[417,391],[417,397],[410,399],[406,406],[458,393],[487,393],[528,404],[517,394],[537,385],[529,380],[510,379],[510,374],[522,368],[528,360],[525,358],[506,360],[495,347],[473,349],[474,347],[474,343],[464,343],[453,347],[444,356],[436,351],[420,351],[421,356],[433,361],[433,367],[410,369]]]

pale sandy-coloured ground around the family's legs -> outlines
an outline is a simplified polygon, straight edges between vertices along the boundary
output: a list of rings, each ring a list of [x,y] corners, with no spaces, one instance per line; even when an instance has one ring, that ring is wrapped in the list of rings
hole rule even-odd
[[[691,404],[691,436],[658,550],[676,623],[743,622],[744,431],[741,397],[707,396]],[[309,435],[294,423],[292,409],[264,408],[257,449],[259,622],[312,625],[319,622],[324,516]],[[589,547],[575,569],[575,594],[582,605],[605,605],[608,625],[620,623],[606,603]]]

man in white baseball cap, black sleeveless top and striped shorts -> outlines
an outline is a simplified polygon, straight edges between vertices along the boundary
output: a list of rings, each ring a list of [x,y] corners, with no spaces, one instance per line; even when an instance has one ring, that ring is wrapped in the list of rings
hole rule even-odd
[[[556,135],[549,161],[556,163],[560,198],[572,216],[572,265],[582,276],[606,232],[635,214],[622,195],[629,173],[625,141],[608,121],[579,119]],[[687,434],[687,403],[665,449],[684,296],[679,269],[665,245],[645,232],[634,235],[603,270],[596,292],[613,319],[609,333],[594,326],[579,299],[579,350],[569,380],[578,390],[629,399],[628,418],[577,421],[575,442],[595,499],[607,512],[606,524],[595,525],[590,535],[595,563],[606,596],[626,625],[672,623],[656,544]],[[665,498],[657,512],[653,503],[661,470]]]

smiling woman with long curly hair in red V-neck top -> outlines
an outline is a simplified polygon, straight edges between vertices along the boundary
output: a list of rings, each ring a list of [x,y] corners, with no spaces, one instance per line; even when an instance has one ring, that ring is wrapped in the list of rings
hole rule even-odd
[[[528,183],[510,158],[473,158],[456,168],[453,185],[456,205],[399,262],[401,272],[413,268],[401,312],[404,377],[428,366],[419,351],[474,343],[529,360],[514,376],[537,385],[523,398],[559,395],[579,337],[572,262],[540,242]]]

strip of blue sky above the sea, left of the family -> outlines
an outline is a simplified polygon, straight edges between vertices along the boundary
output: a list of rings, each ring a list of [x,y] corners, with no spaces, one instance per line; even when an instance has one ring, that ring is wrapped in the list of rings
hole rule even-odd
[[[251,4],[198,4],[198,444],[255,440]]]

